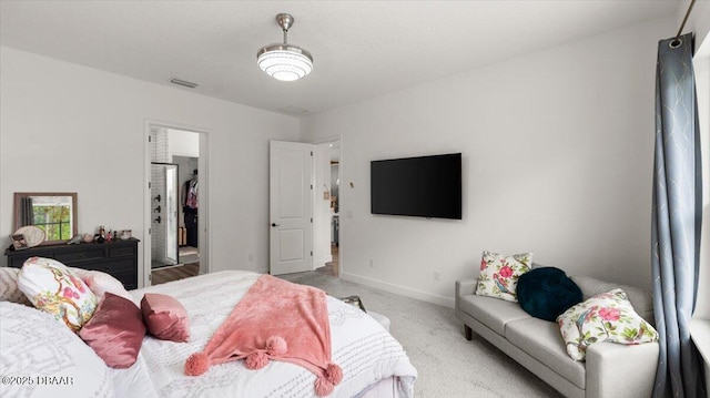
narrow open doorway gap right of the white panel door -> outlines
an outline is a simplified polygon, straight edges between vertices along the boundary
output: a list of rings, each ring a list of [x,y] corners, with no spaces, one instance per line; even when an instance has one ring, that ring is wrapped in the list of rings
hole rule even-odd
[[[321,159],[318,159],[318,156]],[[341,246],[341,234],[339,234],[339,185],[341,185],[341,141],[334,140],[321,144],[316,144],[316,162],[324,167],[322,184],[317,186],[323,186],[327,188],[324,190],[323,198],[327,198],[327,212],[325,213],[325,220],[322,221],[322,225],[327,227],[326,236],[328,242],[328,252],[326,255],[325,263],[316,264],[316,272],[329,276],[338,277],[341,275],[339,267],[339,246]],[[316,181],[320,180],[318,172],[316,170]],[[320,181],[317,181],[320,183]],[[318,194],[316,193],[316,196]],[[318,200],[316,197],[316,211],[318,207]],[[323,226],[321,226],[323,228]]]

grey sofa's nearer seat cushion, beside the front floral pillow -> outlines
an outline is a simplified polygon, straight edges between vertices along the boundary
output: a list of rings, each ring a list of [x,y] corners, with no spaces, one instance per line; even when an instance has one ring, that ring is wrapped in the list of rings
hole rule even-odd
[[[586,364],[567,355],[557,324],[532,317],[514,320],[506,325],[505,337],[575,386],[586,388]]]

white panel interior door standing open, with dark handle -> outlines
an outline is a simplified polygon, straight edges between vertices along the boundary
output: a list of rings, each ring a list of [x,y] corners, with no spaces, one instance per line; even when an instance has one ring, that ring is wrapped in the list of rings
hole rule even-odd
[[[270,142],[270,273],[313,271],[313,145]]]

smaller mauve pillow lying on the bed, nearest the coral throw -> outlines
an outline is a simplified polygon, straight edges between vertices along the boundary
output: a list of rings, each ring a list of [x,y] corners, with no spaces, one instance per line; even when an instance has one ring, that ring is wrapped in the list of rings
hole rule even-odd
[[[175,298],[146,293],[141,299],[141,310],[148,331],[161,340],[187,341],[190,320],[185,307]]]

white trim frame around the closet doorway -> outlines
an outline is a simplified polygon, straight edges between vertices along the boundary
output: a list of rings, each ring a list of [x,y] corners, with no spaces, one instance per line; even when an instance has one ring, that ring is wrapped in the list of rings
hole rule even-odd
[[[212,254],[212,243],[210,239],[210,167],[209,167],[209,137],[210,130],[176,122],[165,122],[159,120],[145,120],[143,134],[143,272],[139,273],[139,288],[151,286],[151,221],[152,221],[152,197],[151,197],[151,146],[150,135],[154,127],[182,130],[196,133],[200,135],[200,157],[197,159],[197,170],[200,170],[200,191],[197,200],[206,205],[197,208],[197,218],[200,220],[199,251],[200,251],[200,274],[210,273],[210,257]],[[139,262],[140,263],[140,262]]]

